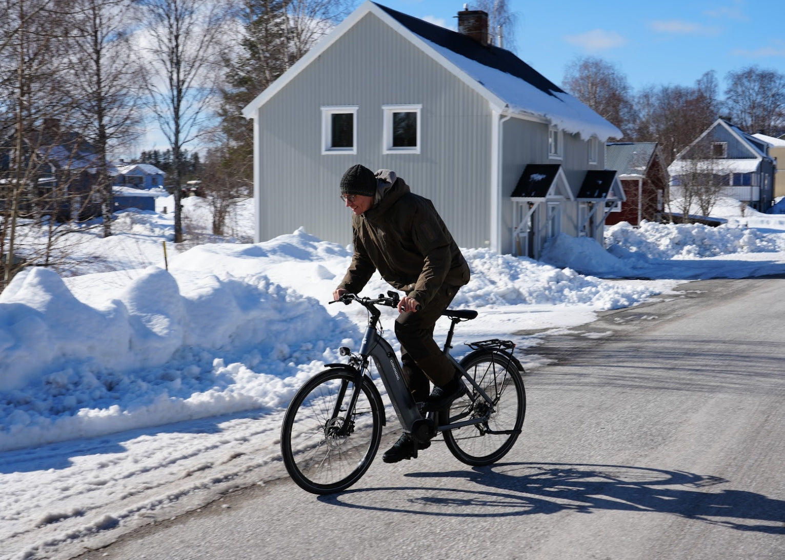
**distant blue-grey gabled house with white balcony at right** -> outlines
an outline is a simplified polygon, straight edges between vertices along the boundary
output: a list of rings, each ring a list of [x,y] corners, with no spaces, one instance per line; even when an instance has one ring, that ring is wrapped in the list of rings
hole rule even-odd
[[[763,211],[774,198],[774,170],[767,142],[717,119],[668,167],[671,196],[705,185]]]

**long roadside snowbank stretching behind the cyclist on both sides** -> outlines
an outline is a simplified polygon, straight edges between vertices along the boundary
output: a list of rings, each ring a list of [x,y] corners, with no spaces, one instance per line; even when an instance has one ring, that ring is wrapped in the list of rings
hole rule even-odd
[[[610,309],[657,291],[465,254],[473,279],[455,306]],[[111,274],[70,279],[69,290],[52,271],[20,273],[0,295],[0,450],[285,406],[304,379],[339,361],[339,346],[360,340],[363,309],[325,301],[350,258],[298,230],[195,247],[170,271],[123,276],[122,287]],[[364,294],[388,289],[377,275]]]

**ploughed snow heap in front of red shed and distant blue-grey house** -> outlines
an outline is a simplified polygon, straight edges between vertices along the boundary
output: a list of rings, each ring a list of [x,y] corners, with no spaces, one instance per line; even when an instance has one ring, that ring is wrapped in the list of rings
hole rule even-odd
[[[648,259],[662,260],[779,250],[775,240],[757,229],[651,221],[644,221],[640,228],[633,228],[626,222],[608,227],[605,229],[605,244],[608,251],[617,256],[644,254]]]

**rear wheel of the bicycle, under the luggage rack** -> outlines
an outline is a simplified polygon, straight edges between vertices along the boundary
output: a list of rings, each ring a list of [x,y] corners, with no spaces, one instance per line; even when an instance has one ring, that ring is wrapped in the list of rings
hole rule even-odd
[[[444,432],[444,443],[456,459],[467,465],[488,465],[515,445],[526,415],[524,382],[515,364],[502,353],[469,354],[461,366],[488,397],[495,411],[486,422]],[[469,392],[450,406],[450,422],[478,418],[487,411],[487,402],[466,383]],[[487,430],[505,432],[490,434]]]

